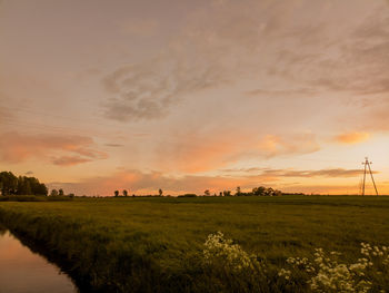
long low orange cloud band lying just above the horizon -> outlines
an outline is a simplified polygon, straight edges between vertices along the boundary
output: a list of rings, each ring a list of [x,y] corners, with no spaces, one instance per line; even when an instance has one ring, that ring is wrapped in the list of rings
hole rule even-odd
[[[220,191],[235,191],[240,186],[242,191],[250,191],[256,186],[272,186],[288,192],[318,192],[318,193],[358,193],[358,186],[349,185],[309,185],[305,183],[282,183],[283,177],[357,177],[361,170],[357,169],[320,169],[320,170],[291,170],[291,169],[265,169],[258,175],[236,176],[170,176],[160,172],[142,173],[140,170],[123,169],[107,176],[89,177],[79,183],[50,183],[50,188],[64,188],[67,193],[77,195],[113,195],[114,191],[129,191],[129,194],[158,194],[178,195],[183,193],[202,194],[209,189],[211,193]]]

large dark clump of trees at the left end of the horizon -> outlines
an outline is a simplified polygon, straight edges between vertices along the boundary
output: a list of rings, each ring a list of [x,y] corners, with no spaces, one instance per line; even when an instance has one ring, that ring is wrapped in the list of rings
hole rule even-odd
[[[12,172],[0,173],[1,195],[48,195],[48,188],[36,177],[14,176]]]

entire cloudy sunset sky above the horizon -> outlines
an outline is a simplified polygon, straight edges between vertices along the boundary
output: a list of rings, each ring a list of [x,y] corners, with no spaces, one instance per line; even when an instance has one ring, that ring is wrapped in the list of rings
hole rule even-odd
[[[0,0],[0,43],[1,170],[358,194],[369,157],[389,194],[387,0]]]

